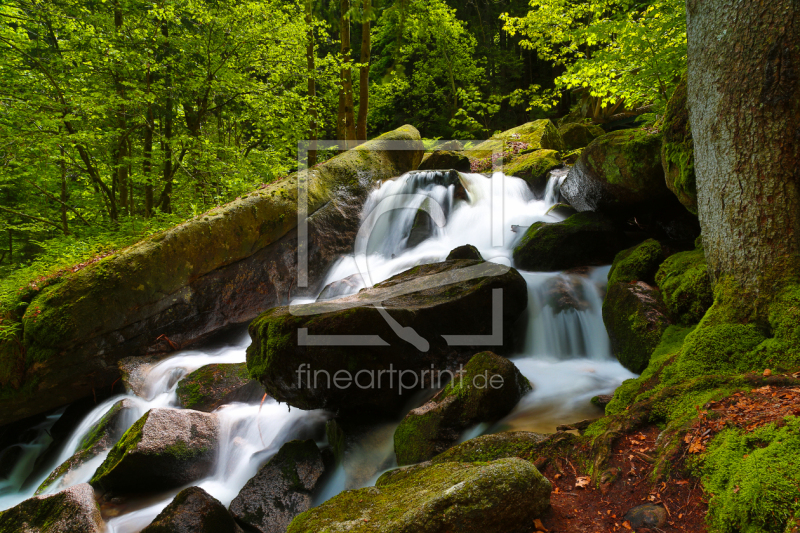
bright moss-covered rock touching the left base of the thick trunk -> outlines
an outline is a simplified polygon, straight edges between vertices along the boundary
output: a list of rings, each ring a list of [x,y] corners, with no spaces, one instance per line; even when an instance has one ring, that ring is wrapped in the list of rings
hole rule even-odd
[[[702,248],[668,257],[656,273],[656,284],[680,324],[700,322],[714,301]]]

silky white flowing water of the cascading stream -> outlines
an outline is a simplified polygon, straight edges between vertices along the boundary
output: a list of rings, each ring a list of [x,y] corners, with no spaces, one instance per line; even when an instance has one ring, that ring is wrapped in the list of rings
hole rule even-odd
[[[364,231],[354,243],[354,254],[341,257],[321,287],[333,284],[328,296],[357,292],[418,264],[442,261],[452,249],[465,244],[476,246],[487,260],[513,265],[513,247],[527,227],[537,221],[558,220],[546,212],[558,200],[561,179],[558,174],[551,177],[542,199],[536,199],[523,180],[500,173],[487,178],[417,171],[384,182],[364,206]],[[552,432],[558,424],[597,417],[601,412],[589,399],[609,394],[623,380],[634,377],[610,354],[601,315],[607,272],[608,267],[567,273],[521,272],[528,284],[528,310],[519,324],[521,342],[512,360],[534,390],[506,419],[491,427],[472,428],[462,440],[507,429]],[[345,278],[347,283],[335,283]],[[149,409],[177,408],[175,390],[183,376],[210,363],[242,363],[248,344],[247,334],[240,332],[224,346],[184,350],[154,365],[140,396],[128,393],[97,405],[75,428],[57,459],[31,480],[34,461],[52,442],[48,432],[61,413],[49,416],[32,428],[33,436],[24,445],[21,458],[8,478],[0,480],[0,509],[31,497],[49,471],[75,452],[81,439],[117,401],[129,402],[130,409],[120,421],[126,428]],[[417,402],[423,400],[417,398]],[[321,411],[291,410],[272,399],[262,405],[226,405],[215,413],[222,428],[218,459],[214,471],[196,485],[225,505],[284,442],[298,436],[308,438],[315,431],[318,434],[329,417]],[[375,428],[357,443],[360,451],[351,453],[350,464],[331,476],[318,502],[345,488],[374,483],[382,470],[392,467],[395,426]],[[69,479],[50,490],[88,481],[105,455],[71,472]],[[119,516],[109,519],[109,531],[139,531],[177,492],[155,494],[116,509]]]

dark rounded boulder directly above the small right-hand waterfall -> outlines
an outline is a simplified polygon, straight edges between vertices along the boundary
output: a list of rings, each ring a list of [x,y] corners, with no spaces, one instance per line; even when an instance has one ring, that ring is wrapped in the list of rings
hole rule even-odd
[[[603,265],[611,263],[626,243],[625,235],[600,213],[578,213],[561,222],[529,227],[514,248],[514,264],[532,271]]]

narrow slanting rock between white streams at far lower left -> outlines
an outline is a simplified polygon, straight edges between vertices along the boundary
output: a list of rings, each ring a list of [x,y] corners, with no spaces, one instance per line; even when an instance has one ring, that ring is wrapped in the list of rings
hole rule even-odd
[[[41,494],[49,488],[58,489],[71,484],[70,474],[114,446],[122,437],[125,428],[133,421],[134,413],[135,407],[130,400],[120,400],[115,403],[81,440],[75,454],[61,463],[39,485],[36,494]]]

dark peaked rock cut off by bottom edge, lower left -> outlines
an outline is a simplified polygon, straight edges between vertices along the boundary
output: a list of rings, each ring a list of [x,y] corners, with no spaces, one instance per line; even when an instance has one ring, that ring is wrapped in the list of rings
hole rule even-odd
[[[242,528],[219,500],[200,487],[189,487],[141,533],[242,533]]]

